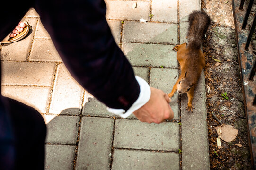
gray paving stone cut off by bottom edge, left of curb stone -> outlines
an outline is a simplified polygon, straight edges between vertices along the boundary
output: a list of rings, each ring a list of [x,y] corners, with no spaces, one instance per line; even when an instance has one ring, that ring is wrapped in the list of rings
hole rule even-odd
[[[179,170],[179,154],[115,149],[112,170]]]

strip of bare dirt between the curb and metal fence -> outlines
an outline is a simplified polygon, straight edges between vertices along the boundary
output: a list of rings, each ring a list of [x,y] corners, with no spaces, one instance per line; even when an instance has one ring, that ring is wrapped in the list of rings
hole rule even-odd
[[[251,170],[232,1],[201,0],[201,4],[202,10],[212,20],[203,43],[205,81],[210,87],[206,96],[211,170]],[[213,57],[221,62],[216,62]],[[206,91],[209,89],[206,88]],[[221,96],[225,92],[228,99]],[[218,134],[213,126],[221,124],[213,114],[223,124],[238,129],[238,136],[232,142],[221,140],[220,149],[217,147]]]

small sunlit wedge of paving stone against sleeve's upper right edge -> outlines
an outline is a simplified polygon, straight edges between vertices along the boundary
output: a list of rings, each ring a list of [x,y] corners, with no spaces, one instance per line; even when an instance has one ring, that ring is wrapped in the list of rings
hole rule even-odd
[[[111,33],[115,39],[115,43],[119,45],[121,40],[121,21],[107,20],[107,23],[111,29]]]

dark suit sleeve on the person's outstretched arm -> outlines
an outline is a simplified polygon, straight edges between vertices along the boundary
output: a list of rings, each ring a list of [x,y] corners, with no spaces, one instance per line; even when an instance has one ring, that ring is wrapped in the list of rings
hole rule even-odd
[[[71,75],[108,107],[127,110],[140,87],[116,45],[103,0],[41,0],[35,4]]]

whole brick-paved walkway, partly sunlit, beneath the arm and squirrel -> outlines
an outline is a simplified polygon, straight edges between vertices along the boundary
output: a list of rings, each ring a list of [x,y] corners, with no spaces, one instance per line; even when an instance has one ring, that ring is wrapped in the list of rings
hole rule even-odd
[[[186,42],[187,15],[201,9],[200,0],[105,1],[115,41],[135,74],[169,93],[179,75],[172,47]],[[172,122],[141,123],[133,115],[120,119],[71,77],[36,11],[29,10],[24,19],[33,32],[3,46],[0,53],[2,94],[43,115],[48,128],[46,170],[209,169],[203,73],[193,113],[185,110],[186,95],[176,93],[170,104]]]

